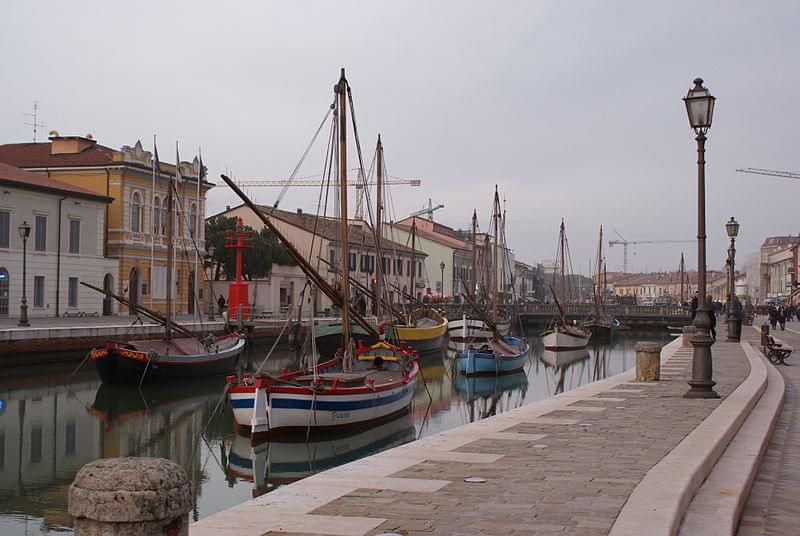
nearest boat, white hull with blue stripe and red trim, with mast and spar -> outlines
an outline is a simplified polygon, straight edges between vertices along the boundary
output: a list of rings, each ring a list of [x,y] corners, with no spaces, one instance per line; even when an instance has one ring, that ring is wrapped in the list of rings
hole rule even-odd
[[[393,345],[384,340],[383,334],[377,333],[354,310],[349,299],[348,170],[345,132],[350,87],[344,69],[334,91],[336,93],[334,117],[339,135],[337,155],[341,218],[339,244],[342,249],[339,267],[340,289],[336,290],[328,284],[311,266],[308,259],[293,247],[287,245],[287,249],[308,278],[341,309],[341,352],[338,352],[335,360],[321,365],[316,364],[316,356],[312,355],[314,359],[307,369],[278,377],[268,374],[260,374],[255,378],[229,376],[228,398],[234,410],[234,419],[238,426],[249,430],[252,437],[291,431],[310,433],[365,426],[408,411],[416,386],[419,372],[417,352],[404,343]],[[380,150],[380,140],[378,144]],[[252,201],[236,187],[233,181],[225,176],[222,178],[245,204],[255,210]],[[273,229],[281,242],[289,244],[282,233],[274,229],[269,218],[259,211],[256,212],[262,221]],[[379,340],[366,345],[362,341],[353,339],[350,334],[351,317]],[[312,322],[312,337],[315,337],[314,330]]]

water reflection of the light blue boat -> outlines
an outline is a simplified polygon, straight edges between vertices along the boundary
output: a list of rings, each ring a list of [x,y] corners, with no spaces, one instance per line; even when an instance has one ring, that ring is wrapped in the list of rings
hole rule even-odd
[[[520,407],[528,390],[528,374],[524,370],[499,376],[457,374],[454,382],[467,403],[469,422]]]

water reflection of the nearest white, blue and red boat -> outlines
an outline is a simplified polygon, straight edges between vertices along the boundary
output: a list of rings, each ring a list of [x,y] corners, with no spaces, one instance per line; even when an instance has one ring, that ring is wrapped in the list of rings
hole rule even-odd
[[[253,496],[332,467],[408,443],[416,437],[411,413],[350,433],[325,432],[253,443],[236,434],[228,452],[229,481],[253,483]]]

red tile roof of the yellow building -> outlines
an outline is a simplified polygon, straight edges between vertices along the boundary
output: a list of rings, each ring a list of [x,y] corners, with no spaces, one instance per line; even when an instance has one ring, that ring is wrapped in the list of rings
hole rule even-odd
[[[51,143],[8,143],[0,145],[0,162],[20,168],[107,166],[114,161],[114,149],[93,144],[79,153],[50,154]]]

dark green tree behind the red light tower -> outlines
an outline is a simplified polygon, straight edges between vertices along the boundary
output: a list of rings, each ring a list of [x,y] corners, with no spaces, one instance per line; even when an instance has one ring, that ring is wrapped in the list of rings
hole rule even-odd
[[[214,246],[214,280],[219,280],[221,276],[231,280],[236,275],[236,252],[225,247],[225,231],[235,228],[236,218],[217,216],[206,221],[206,250]],[[252,230],[248,226],[245,229]],[[296,264],[286,247],[278,242],[272,231],[264,227],[259,232],[253,232],[253,249],[244,253],[242,276],[247,280],[265,277],[272,271],[273,263],[288,266]]]

